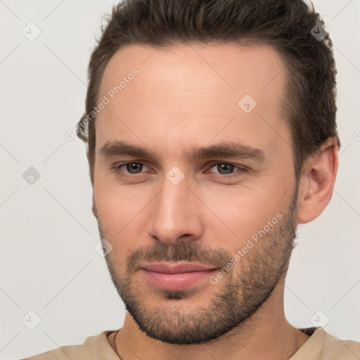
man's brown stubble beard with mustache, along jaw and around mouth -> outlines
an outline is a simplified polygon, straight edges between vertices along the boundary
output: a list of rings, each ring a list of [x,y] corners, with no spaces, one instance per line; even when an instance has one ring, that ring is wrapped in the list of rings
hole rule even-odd
[[[216,290],[206,306],[191,306],[203,291],[197,288],[148,289],[143,281],[134,278],[135,264],[141,259],[224,266],[235,254],[186,240],[176,245],[158,242],[150,249],[140,248],[132,252],[127,257],[126,271],[124,264],[120,265],[110,252],[106,262],[111,279],[127,311],[150,338],[177,345],[217,339],[233,328],[243,326],[269,299],[278,281],[285,279],[296,238],[296,210],[297,191],[282,221],[259,239],[219,283],[213,285],[209,282],[207,286],[216,287]],[[100,221],[98,225],[103,238]]]

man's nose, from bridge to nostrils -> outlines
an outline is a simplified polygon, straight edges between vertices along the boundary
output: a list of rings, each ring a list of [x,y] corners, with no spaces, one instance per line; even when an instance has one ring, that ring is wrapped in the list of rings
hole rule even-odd
[[[162,190],[153,202],[148,233],[162,243],[175,244],[195,240],[203,234],[203,214],[199,199],[188,188],[184,179],[172,184],[162,181]]]

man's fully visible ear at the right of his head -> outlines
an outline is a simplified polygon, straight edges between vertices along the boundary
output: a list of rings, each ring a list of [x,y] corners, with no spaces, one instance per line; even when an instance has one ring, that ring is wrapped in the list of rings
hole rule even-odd
[[[333,195],[337,172],[338,141],[331,137],[304,163],[297,198],[297,224],[306,224],[323,212]]]

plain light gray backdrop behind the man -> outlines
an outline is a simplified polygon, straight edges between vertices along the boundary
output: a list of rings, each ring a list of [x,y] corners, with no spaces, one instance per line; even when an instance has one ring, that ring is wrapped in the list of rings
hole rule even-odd
[[[294,326],[309,327],[321,310],[328,333],[360,341],[360,1],[314,4],[335,43],[342,148],[330,205],[298,228],[285,314]],[[65,139],[84,113],[94,34],[112,5],[0,0],[1,359],[81,344],[124,320],[105,260],[93,248],[99,238],[85,146]],[[34,41],[22,34],[30,22],[41,30]],[[33,185],[23,179],[29,167],[41,175]],[[30,310],[41,318],[34,330],[22,322]]]

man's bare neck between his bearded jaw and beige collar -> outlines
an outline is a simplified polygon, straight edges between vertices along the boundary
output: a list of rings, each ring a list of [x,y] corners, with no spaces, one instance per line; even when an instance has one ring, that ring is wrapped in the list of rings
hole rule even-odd
[[[184,360],[205,359],[290,359],[309,335],[294,328],[283,311],[284,282],[279,281],[271,297],[249,319],[221,337],[195,345],[173,345],[149,338],[129,313],[116,337],[122,359],[162,360],[181,354]],[[110,345],[115,349],[113,338]]]

